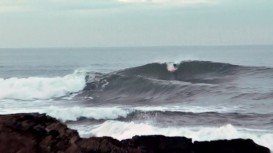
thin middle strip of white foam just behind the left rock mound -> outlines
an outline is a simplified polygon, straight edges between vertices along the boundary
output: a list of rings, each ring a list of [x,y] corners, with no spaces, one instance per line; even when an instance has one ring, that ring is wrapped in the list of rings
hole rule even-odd
[[[20,108],[17,106],[10,106],[8,104],[5,109],[0,109],[0,114],[10,114],[10,113],[28,113],[28,112],[39,112],[46,113],[52,117],[55,117],[62,121],[77,121],[79,118],[89,118],[95,120],[108,120],[108,119],[118,119],[120,117],[126,118],[129,114],[140,111],[140,112],[194,112],[194,113],[205,113],[205,112],[229,112],[228,108],[223,107],[220,109],[216,108],[203,108],[203,107],[194,107],[194,106],[147,106],[147,107],[122,107],[122,106],[104,106],[104,107],[86,107],[86,106],[40,106],[32,107],[34,101],[31,103],[25,104],[28,105],[25,108]],[[37,101],[38,103],[43,103],[43,101]],[[47,101],[46,101],[47,102]],[[13,104],[14,102],[10,102]],[[234,110],[234,109],[233,109]]]

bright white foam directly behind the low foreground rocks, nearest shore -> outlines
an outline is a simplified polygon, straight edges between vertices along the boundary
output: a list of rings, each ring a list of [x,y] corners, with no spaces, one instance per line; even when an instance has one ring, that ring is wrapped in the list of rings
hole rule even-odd
[[[230,124],[221,127],[155,127],[146,123],[106,121],[89,132],[85,129],[78,129],[83,137],[111,136],[119,140],[128,139],[135,135],[185,136],[193,141],[209,141],[219,139],[252,139],[257,144],[266,146],[273,150],[273,133],[266,131],[255,131],[239,129]]]

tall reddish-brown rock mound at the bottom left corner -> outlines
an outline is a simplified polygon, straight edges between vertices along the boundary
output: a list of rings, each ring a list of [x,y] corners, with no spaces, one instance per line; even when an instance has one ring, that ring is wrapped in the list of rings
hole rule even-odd
[[[76,145],[69,141],[73,136],[80,139],[76,131],[45,114],[0,116],[1,153],[67,152]]]

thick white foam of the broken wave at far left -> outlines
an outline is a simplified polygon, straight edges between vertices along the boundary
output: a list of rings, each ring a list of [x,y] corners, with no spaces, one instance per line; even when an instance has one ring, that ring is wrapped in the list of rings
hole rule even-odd
[[[75,71],[64,77],[0,78],[0,99],[50,99],[78,92],[85,86],[85,73]]]

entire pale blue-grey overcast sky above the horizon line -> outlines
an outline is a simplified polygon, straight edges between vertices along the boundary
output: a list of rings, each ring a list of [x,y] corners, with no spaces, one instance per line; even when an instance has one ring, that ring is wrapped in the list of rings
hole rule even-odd
[[[0,0],[0,48],[273,44],[273,0]]]

